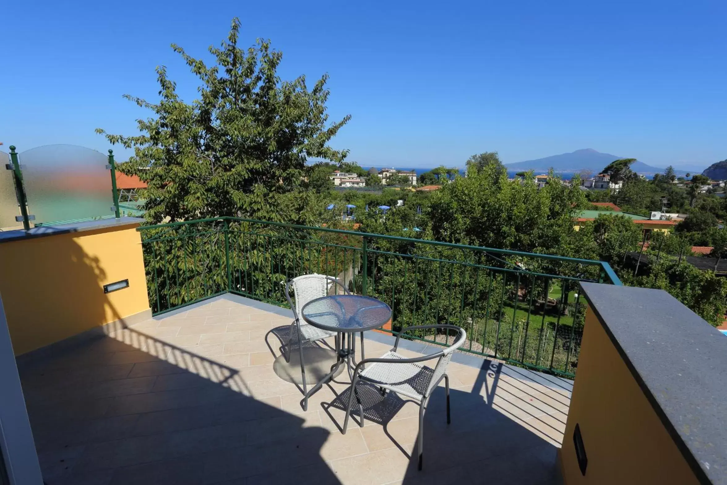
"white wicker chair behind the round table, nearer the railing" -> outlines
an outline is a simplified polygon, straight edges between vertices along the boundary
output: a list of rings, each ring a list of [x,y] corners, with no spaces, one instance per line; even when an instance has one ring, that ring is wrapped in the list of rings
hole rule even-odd
[[[331,286],[333,291],[331,292]],[[290,292],[293,292],[295,302],[291,298]],[[339,291],[341,290],[341,291]],[[308,386],[305,380],[305,363],[303,361],[303,343],[316,342],[328,337],[337,337],[337,332],[329,332],[319,329],[316,326],[306,323],[300,312],[306,303],[316,298],[326,297],[329,294],[350,294],[340,281],[331,276],[319,275],[316,273],[297,276],[288,281],[285,286],[285,297],[288,300],[291,310],[293,310],[294,321],[290,328],[290,337],[288,340],[288,352],[286,361],[290,361],[290,353],[292,348],[293,337],[297,337],[298,353],[300,356],[300,372],[303,380],[303,394],[308,394]],[[353,339],[353,336],[351,336]],[[353,339],[355,344],[356,339]],[[354,347],[355,348],[355,347]],[[361,358],[364,358],[364,333],[361,332]],[[308,409],[308,397],[303,400],[303,410]]]

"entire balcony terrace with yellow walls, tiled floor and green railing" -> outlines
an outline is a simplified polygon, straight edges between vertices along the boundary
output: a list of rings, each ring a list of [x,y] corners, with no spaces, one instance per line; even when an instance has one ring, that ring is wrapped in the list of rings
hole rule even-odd
[[[139,223],[0,232],[1,484],[727,485],[727,340],[606,263],[233,218]],[[302,409],[297,352],[281,352],[284,284],[306,273],[393,310],[366,332],[369,358],[403,326],[467,330],[451,424],[442,387],[427,405],[422,471],[414,402],[361,385],[366,425],[356,412],[344,435],[342,374]],[[419,334],[399,350],[441,345]],[[334,353],[304,353],[317,381]]]

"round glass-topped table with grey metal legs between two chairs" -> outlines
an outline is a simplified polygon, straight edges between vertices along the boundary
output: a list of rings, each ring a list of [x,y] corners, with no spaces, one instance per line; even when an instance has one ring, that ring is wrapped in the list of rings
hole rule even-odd
[[[364,353],[364,334],[366,330],[377,329],[391,319],[391,308],[385,302],[357,294],[334,294],[316,298],[303,305],[300,310],[303,320],[319,329],[336,332],[336,363],[331,372],[311,388],[301,401],[303,409],[308,409],[308,398],[333,379],[338,369],[346,365],[348,375],[356,362],[355,334],[361,332],[361,355]],[[352,365],[353,364],[353,365]]]

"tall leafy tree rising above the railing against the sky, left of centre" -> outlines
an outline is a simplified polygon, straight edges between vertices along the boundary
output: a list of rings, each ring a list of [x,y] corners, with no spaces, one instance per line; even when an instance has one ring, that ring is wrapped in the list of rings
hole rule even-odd
[[[269,41],[238,47],[240,22],[228,39],[210,47],[214,65],[172,44],[200,79],[198,100],[185,103],[166,68],[157,68],[158,103],[126,95],[153,117],[137,121],[142,135],[97,132],[112,144],[134,148],[119,170],[148,184],[146,217],[159,223],[202,217],[243,216],[310,222],[310,158],[340,163],[347,151],[329,146],[350,116],[329,123],[327,76],[308,89],[305,77],[281,81],[282,53]],[[310,180],[310,179],[309,179]]]

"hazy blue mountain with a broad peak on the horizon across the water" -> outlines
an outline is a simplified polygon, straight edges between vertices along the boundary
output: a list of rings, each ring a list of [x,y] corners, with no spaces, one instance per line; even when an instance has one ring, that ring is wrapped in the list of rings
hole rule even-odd
[[[578,172],[579,170],[590,170],[594,174],[598,174],[603,167],[610,164],[614,160],[626,157],[611,155],[610,153],[601,153],[593,150],[593,148],[585,148],[572,153],[562,153],[561,155],[547,156],[545,159],[518,161],[514,164],[505,164],[508,170],[535,170],[537,172],[546,172],[553,167],[555,172]],[[663,173],[664,169],[651,167],[642,161],[635,161],[631,165],[634,172],[643,175],[654,175]],[[675,170],[678,176],[685,175],[683,170]]]

